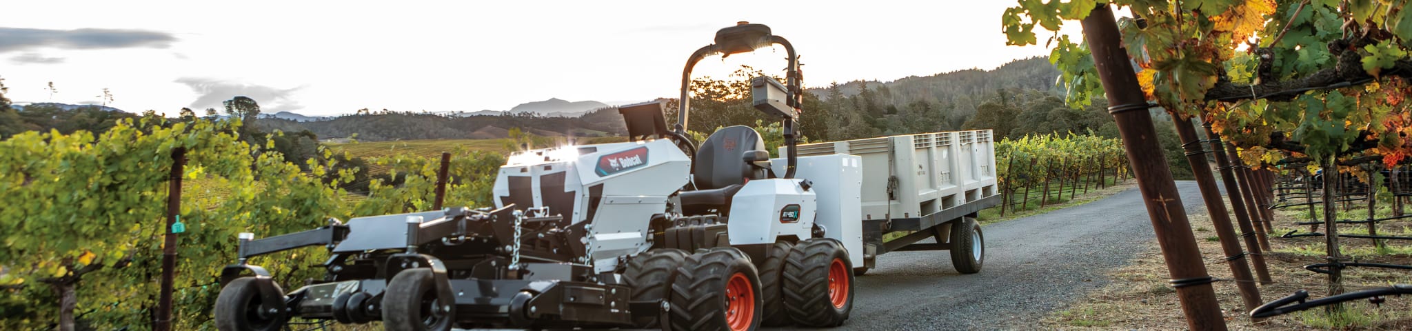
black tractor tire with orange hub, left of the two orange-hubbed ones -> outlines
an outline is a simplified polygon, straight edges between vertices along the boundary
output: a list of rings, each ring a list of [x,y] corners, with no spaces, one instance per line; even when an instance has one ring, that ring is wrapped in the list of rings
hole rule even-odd
[[[760,328],[760,276],[738,249],[712,248],[686,256],[675,277],[666,330]]]

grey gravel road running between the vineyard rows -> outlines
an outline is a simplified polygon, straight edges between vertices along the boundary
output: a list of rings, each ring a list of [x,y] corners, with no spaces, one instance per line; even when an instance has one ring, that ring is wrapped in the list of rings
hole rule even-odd
[[[1178,181],[1187,212],[1202,205],[1193,181]],[[1141,194],[986,225],[986,266],[960,274],[947,252],[894,252],[857,279],[853,314],[833,330],[1031,330],[1125,265],[1154,239]]]

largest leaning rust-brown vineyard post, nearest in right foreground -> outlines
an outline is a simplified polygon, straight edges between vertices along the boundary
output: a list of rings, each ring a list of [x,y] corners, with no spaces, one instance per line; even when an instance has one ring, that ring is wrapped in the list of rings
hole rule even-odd
[[[1152,116],[1148,115],[1151,106],[1138,86],[1137,74],[1127,50],[1123,48],[1118,25],[1108,4],[1097,6],[1083,18],[1083,35],[1093,52],[1093,64],[1103,82],[1103,91],[1113,105],[1108,106],[1108,113],[1118,124],[1123,147],[1138,178],[1138,191],[1142,192],[1152,231],[1156,233],[1158,246],[1172,277],[1171,283],[1176,287],[1176,297],[1186,314],[1187,327],[1226,330],[1220,303],[1216,301],[1216,291],[1211,289],[1211,281],[1216,279],[1207,274],[1206,262],[1196,248],[1192,223],[1186,219],[1186,208],[1176,191],[1176,182],[1172,181],[1172,170],[1166,167],[1166,157],[1162,156]]]

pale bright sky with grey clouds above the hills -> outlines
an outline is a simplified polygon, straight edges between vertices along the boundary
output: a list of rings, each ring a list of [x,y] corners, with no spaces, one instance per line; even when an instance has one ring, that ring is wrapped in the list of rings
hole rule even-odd
[[[559,98],[675,98],[716,30],[767,24],[806,86],[993,69],[1049,54],[1007,47],[1015,1],[11,1],[0,78],[14,102],[103,103],[175,115],[237,95],[267,113],[508,110]],[[707,6],[702,6],[707,4]],[[1077,35],[1079,24],[1066,24]],[[1048,35],[1041,33],[1041,44]],[[782,74],[782,48],[707,58]],[[48,83],[54,83],[54,91]]]

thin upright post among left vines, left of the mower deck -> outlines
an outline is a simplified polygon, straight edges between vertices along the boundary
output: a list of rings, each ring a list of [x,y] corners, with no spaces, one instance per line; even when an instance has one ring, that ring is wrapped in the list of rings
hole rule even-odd
[[[176,233],[172,225],[181,215],[181,177],[186,167],[186,149],[172,150],[172,170],[167,175],[167,231],[162,242],[162,280],[157,298],[154,330],[168,331],[172,323],[172,281],[176,277]]]

